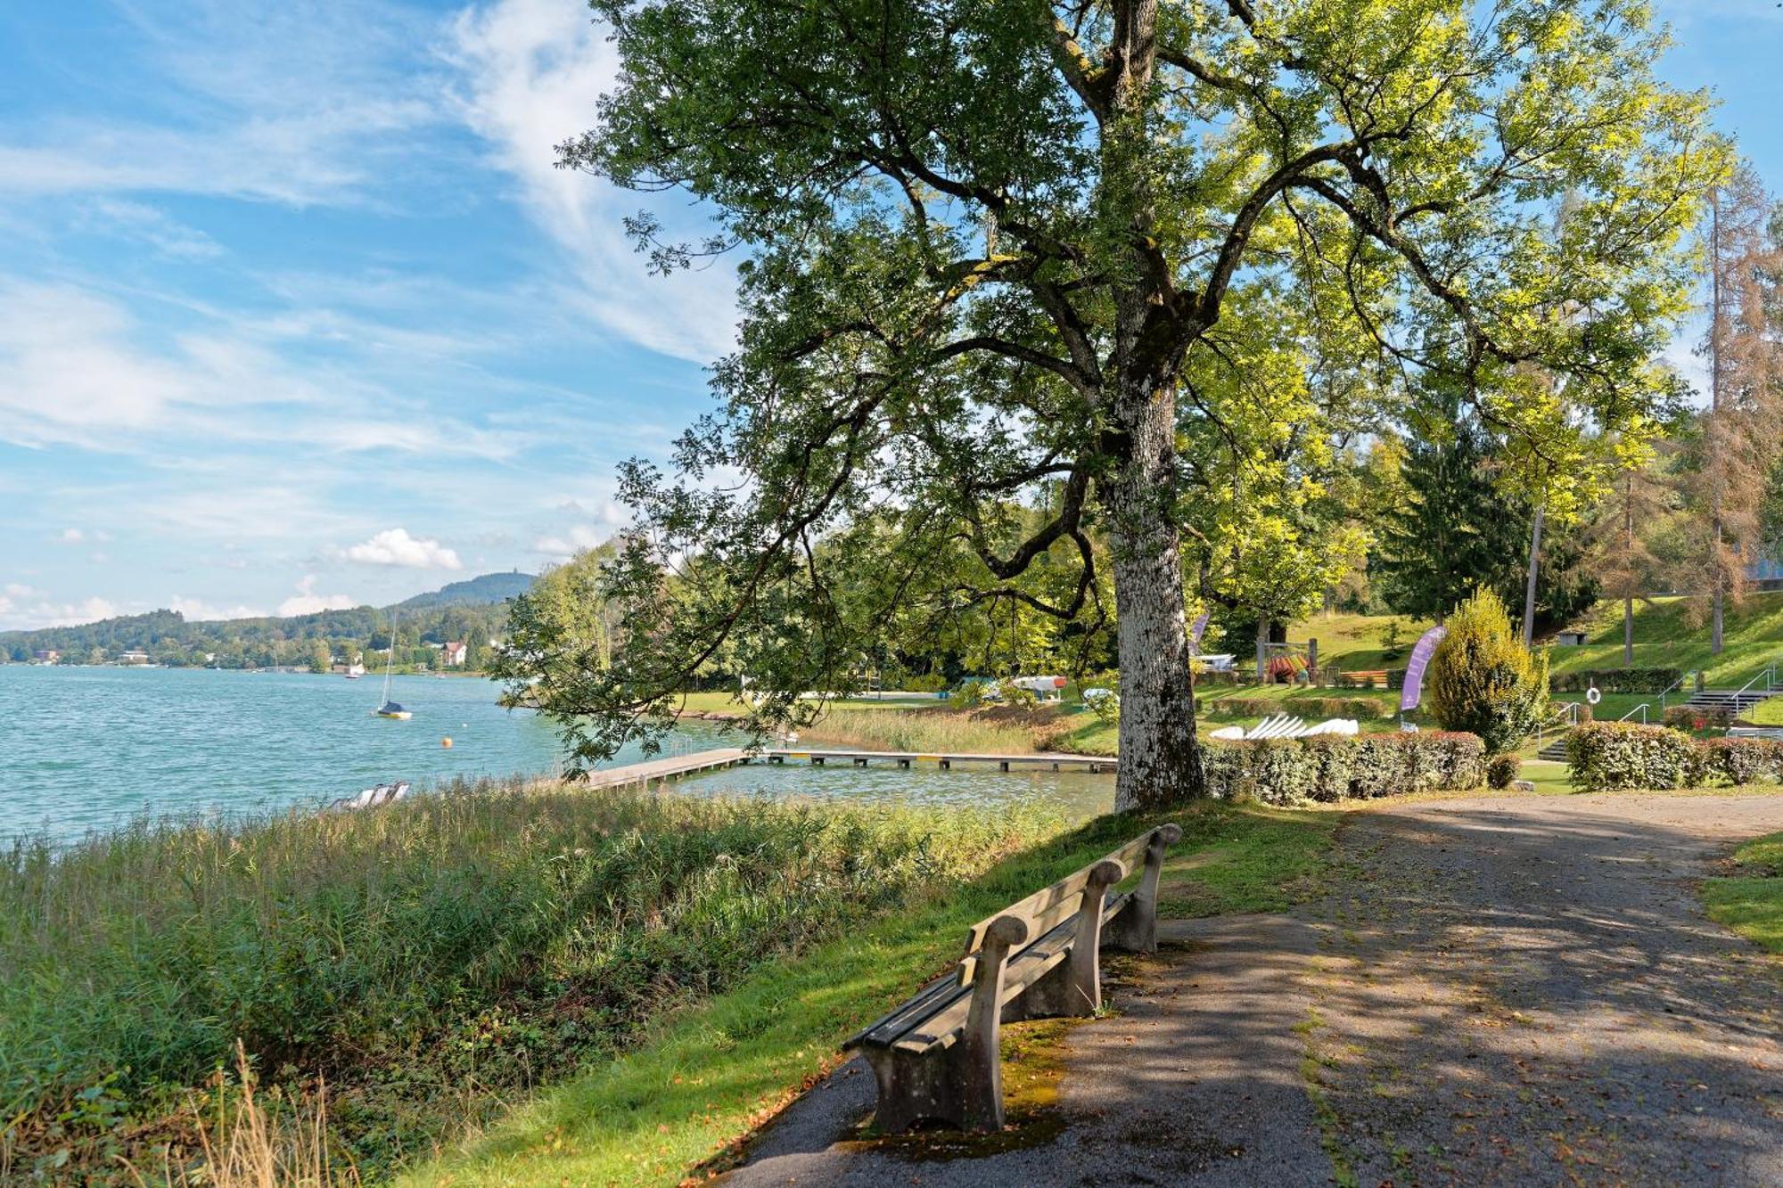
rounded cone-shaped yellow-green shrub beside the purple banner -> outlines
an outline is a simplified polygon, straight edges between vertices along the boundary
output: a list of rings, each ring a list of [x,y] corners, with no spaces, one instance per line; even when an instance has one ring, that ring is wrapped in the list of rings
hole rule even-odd
[[[1448,628],[1430,658],[1432,714],[1444,730],[1480,735],[1489,755],[1516,749],[1548,703],[1548,656],[1530,655],[1487,589],[1464,601]]]

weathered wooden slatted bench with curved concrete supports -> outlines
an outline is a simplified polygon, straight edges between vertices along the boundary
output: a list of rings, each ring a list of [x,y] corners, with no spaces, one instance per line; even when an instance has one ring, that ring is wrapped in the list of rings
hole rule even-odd
[[[1002,1129],[1002,1022],[1093,1015],[1102,1006],[1102,945],[1157,949],[1157,878],[1164,849],[1180,837],[1173,824],[1141,833],[979,920],[956,969],[850,1036],[842,1047],[861,1049],[879,1083],[879,1131],[918,1120]],[[1141,862],[1139,885],[1111,899],[1107,890]]]

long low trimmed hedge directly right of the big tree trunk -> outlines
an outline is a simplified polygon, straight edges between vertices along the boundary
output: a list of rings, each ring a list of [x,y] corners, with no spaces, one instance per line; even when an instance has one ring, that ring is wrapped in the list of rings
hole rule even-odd
[[[1485,780],[1485,744],[1451,731],[1207,742],[1200,753],[1211,796],[1266,804],[1460,792]]]

